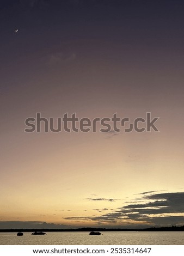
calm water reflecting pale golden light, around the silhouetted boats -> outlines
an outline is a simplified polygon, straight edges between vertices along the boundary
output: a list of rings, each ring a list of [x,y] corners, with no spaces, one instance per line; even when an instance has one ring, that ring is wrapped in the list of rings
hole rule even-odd
[[[99,236],[89,232],[0,233],[0,245],[184,245],[184,232],[102,232]]]

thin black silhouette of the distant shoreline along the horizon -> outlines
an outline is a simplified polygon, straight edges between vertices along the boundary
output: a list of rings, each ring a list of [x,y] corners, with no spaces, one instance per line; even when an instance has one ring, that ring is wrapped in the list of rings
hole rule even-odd
[[[128,229],[128,228],[76,228],[76,229],[0,229],[0,232],[35,232],[35,231],[45,231],[45,232],[78,232],[78,231],[184,231],[184,225],[181,227],[152,227],[144,229]]]

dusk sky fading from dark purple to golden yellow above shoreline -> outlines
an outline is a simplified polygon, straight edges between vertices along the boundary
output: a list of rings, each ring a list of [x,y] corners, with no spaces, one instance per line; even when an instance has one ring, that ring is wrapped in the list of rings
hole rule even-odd
[[[1,1],[0,229],[184,224],[183,9]],[[148,112],[158,132],[24,131],[36,113],[57,127]]]

